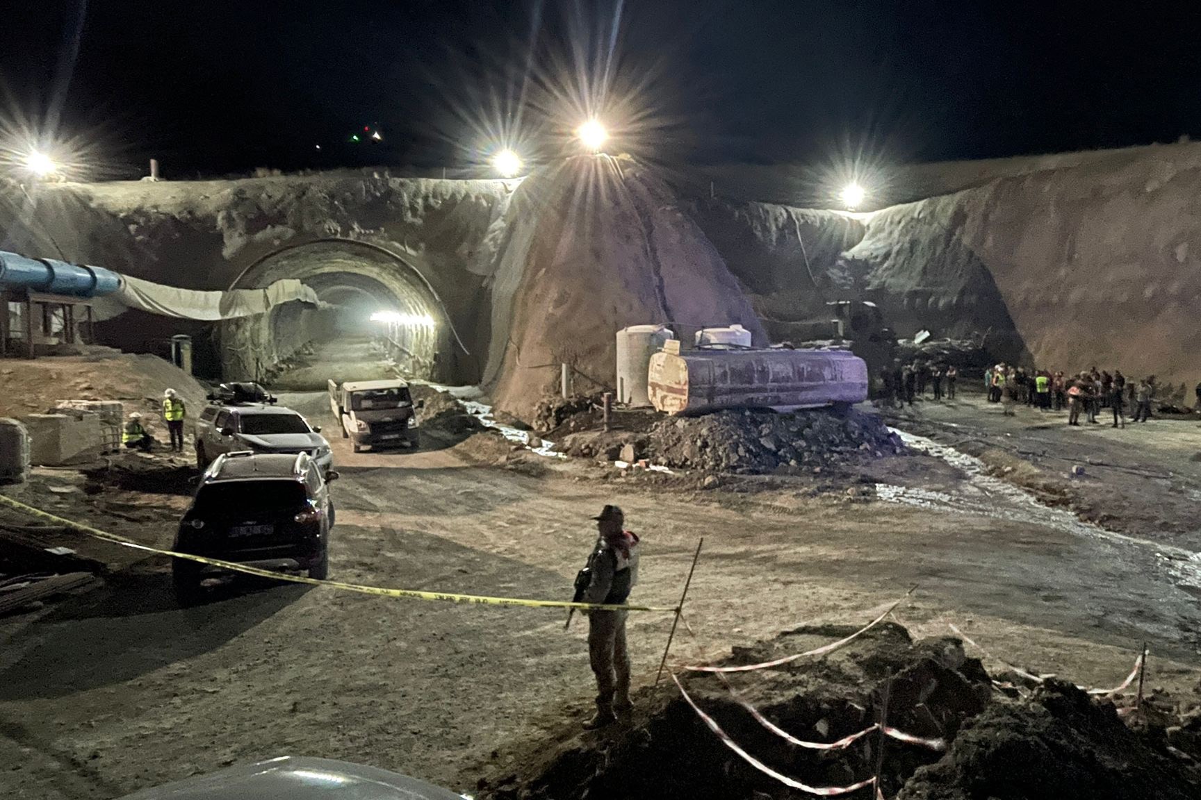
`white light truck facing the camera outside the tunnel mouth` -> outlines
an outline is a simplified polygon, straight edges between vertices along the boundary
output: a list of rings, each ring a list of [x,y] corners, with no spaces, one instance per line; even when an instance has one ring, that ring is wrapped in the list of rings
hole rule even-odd
[[[354,452],[364,447],[411,447],[420,445],[417,410],[404,380],[359,380],[339,385],[329,381],[329,410],[349,439]]]

